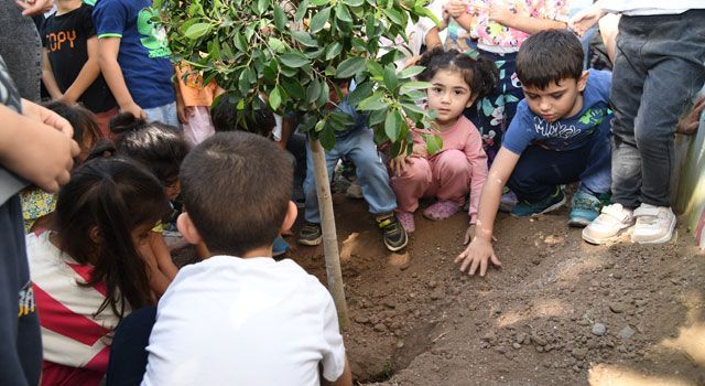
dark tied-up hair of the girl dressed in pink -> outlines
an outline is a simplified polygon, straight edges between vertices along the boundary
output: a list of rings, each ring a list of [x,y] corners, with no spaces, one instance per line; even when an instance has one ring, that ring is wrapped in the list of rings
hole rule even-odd
[[[495,62],[484,56],[475,58],[457,50],[433,49],[421,56],[419,65],[426,67],[419,74],[419,79],[423,82],[431,82],[440,69],[463,74],[475,100],[491,94],[499,83],[499,72]]]

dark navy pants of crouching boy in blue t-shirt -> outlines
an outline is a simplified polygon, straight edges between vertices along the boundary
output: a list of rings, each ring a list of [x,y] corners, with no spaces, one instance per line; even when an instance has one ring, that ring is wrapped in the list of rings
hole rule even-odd
[[[566,151],[532,144],[519,158],[507,186],[519,200],[538,202],[555,192],[555,186],[581,181],[594,194],[609,192],[610,120],[605,119],[585,146]]]

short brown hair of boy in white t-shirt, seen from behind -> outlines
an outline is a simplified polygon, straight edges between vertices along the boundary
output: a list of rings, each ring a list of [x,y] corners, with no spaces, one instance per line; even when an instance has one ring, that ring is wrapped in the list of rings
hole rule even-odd
[[[184,207],[212,253],[242,256],[272,245],[293,187],[276,144],[249,132],[217,132],[181,167]]]

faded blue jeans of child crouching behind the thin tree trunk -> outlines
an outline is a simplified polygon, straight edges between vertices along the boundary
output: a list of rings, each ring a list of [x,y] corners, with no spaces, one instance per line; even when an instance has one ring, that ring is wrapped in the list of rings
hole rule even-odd
[[[371,129],[361,128],[345,137],[336,138],[335,147],[326,152],[326,167],[328,176],[333,178],[335,165],[340,158],[350,159],[355,163],[357,181],[362,189],[362,195],[370,205],[370,213],[383,214],[397,208],[397,199],[389,184],[389,173],[379,158],[372,136]],[[310,223],[319,224],[321,213],[312,156],[311,142],[306,141],[306,181],[304,182],[306,208],[304,218]]]

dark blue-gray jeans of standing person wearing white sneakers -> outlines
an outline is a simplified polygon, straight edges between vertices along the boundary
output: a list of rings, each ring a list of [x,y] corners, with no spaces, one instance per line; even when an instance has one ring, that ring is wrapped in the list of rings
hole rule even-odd
[[[619,21],[610,103],[612,202],[671,206],[675,125],[705,83],[705,10]]]

